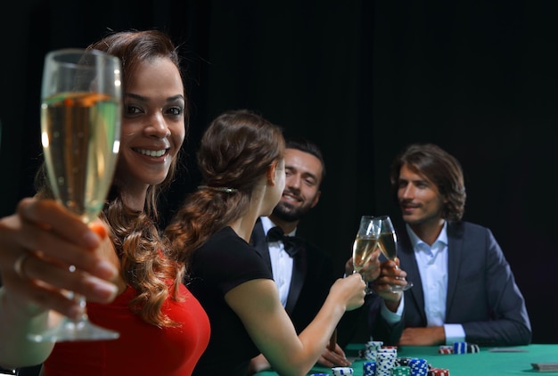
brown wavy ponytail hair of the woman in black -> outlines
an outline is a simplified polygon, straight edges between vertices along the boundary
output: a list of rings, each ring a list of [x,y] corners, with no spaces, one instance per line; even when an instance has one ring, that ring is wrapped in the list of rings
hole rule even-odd
[[[282,129],[253,111],[226,111],[209,124],[197,153],[203,185],[166,229],[179,259],[187,265],[194,249],[247,212],[261,176],[284,149]]]

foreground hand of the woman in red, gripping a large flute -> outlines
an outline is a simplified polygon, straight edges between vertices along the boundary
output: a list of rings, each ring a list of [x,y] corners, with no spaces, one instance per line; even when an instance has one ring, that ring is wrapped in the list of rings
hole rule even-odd
[[[100,221],[90,228],[54,200],[21,200],[15,214],[0,220],[4,293],[30,314],[53,309],[70,317],[81,307],[67,290],[89,301],[111,301],[118,269],[95,251],[105,237]]]

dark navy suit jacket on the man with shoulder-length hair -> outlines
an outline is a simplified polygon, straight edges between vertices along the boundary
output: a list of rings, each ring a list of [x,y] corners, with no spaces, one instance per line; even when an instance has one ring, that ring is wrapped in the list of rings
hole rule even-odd
[[[480,346],[518,346],[531,340],[525,300],[492,232],[468,222],[448,222],[446,323],[460,323],[465,340]],[[405,327],[425,327],[423,283],[414,250],[403,228],[398,257],[414,287],[406,290],[402,320],[394,327],[379,313],[380,298],[370,306],[375,340],[397,344]]]

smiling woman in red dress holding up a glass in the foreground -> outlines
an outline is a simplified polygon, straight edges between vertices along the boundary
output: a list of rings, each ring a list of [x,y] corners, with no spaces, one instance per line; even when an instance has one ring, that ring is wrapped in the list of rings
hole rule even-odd
[[[209,320],[154,225],[186,133],[176,47],[149,30],[114,33],[89,48],[123,65],[119,162],[99,221],[108,236],[49,200],[48,184],[0,221],[0,365],[43,363],[46,376],[189,375],[209,342]],[[91,321],[119,339],[30,342],[28,333],[79,315],[65,290],[84,295]]]

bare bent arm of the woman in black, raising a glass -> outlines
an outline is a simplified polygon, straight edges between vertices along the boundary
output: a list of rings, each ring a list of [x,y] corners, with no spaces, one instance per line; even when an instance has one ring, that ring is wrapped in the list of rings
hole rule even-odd
[[[272,280],[244,282],[230,290],[225,298],[277,372],[303,375],[324,352],[345,311],[362,306],[365,282],[359,274],[335,282],[324,306],[300,336],[281,305]]]

